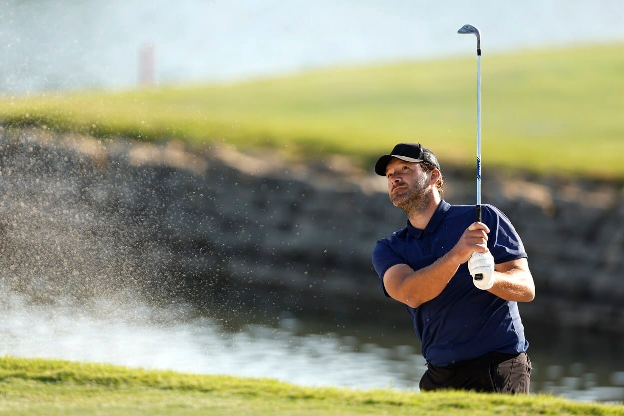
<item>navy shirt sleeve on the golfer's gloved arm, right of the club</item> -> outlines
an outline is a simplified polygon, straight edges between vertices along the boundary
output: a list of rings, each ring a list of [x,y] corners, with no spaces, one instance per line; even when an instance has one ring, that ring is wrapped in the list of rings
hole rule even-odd
[[[501,210],[489,204],[484,204],[482,209],[483,220],[490,228],[487,247],[494,256],[494,262],[500,264],[528,257],[520,235],[509,218]]]

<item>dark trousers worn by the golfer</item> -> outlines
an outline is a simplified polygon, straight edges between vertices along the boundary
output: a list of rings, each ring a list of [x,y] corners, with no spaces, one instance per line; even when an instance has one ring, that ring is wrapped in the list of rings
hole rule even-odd
[[[531,361],[525,352],[501,354],[490,352],[456,364],[427,364],[422,375],[421,391],[454,389],[508,394],[529,393]]]

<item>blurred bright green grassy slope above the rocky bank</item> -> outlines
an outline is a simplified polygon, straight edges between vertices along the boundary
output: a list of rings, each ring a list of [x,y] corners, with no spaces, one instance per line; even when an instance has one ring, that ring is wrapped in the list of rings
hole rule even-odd
[[[482,57],[487,167],[624,179],[624,44]],[[0,122],[95,136],[353,154],[399,141],[473,169],[476,58],[342,67],[226,85],[4,97]]]

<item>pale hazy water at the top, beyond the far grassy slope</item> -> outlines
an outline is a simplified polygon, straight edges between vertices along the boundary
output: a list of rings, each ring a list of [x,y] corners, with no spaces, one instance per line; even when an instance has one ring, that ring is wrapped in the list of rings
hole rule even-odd
[[[624,2],[525,0],[7,0],[0,92],[229,80],[364,62],[470,56],[624,39]]]

